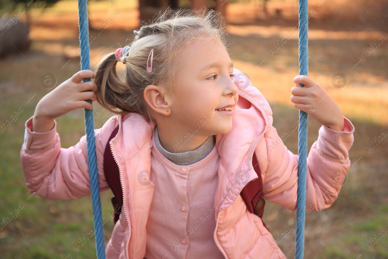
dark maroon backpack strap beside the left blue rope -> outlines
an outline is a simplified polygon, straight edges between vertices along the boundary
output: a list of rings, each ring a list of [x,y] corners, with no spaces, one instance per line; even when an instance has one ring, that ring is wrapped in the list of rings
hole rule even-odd
[[[114,157],[111,151],[111,145],[109,144],[109,141],[111,141],[111,139],[113,139],[117,135],[118,131],[119,131],[119,126],[117,126],[113,130],[111,136],[108,139],[108,142],[106,144],[105,151],[104,151],[104,162],[103,162],[105,179],[114,195],[111,199],[113,208],[116,210],[113,217],[114,224],[116,224],[116,222],[118,221],[120,212],[121,212],[121,207],[123,206],[123,191],[121,189],[119,167],[116,161],[114,161]]]

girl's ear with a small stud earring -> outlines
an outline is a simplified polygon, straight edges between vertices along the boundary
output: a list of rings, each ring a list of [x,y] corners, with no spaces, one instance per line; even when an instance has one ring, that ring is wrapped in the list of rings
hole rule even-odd
[[[162,115],[170,115],[171,109],[169,107],[168,97],[163,91],[163,87],[159,85],[148,85],[144,89],[144,100],[148,106]],[[168,110],[168,111],[167,111]]]

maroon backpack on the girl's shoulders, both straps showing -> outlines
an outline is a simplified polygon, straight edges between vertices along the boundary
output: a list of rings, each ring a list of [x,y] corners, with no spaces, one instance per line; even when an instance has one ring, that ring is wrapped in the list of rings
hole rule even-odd
[[[121,213],[121,208],[123,206],[123,189],[121,188],[120,171],[116,161],[114,161],[114,157],[110,148],[109,141],[111,141],[117,135],[118,131],[119,131],[119,126],[117,126],[113,130],[111,136],[109,137],[109,140],[106,144],[106,148],[104,151],[104,162],[103,162],[105,179],[114,195],[111,198],[112,205],[115,208],[115,214],[113,217],[114,224],[116,224],[116,222],[118,221]],[[256,174],[259,177],[258,179],[250,181],[248,184],[246,184],[246,186],[242,188],[240,195],[244,200],[249,212],[254,213],[255,215],[259,216],[261,219],[263,219],[263,212],[264,212],[264,205],[265,205],[265,200],[262,198],[263,182],[262,182],[260,167],[258,166],[258,161],[255,155],[255,152],[253,152],[252,164]],[[263,222],[263,225],[265,226],[265,228],[267,228],[264,222]]]

